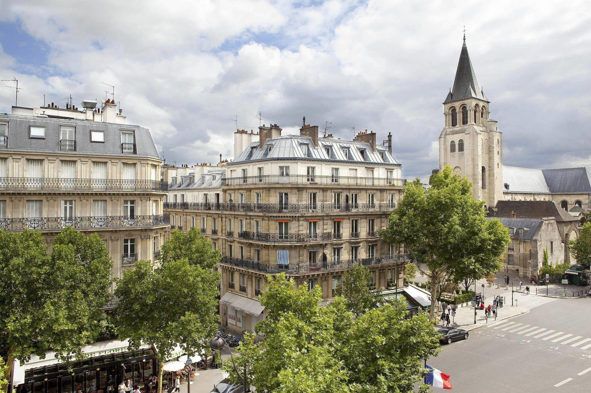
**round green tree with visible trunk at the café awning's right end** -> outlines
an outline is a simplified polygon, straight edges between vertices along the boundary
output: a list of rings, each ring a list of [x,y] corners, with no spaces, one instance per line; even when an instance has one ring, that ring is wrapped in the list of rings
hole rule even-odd
[[[190,264],[186,258],[168,260],[154,269],[137,261],[118,280],[115,325],[132,348],[150,343],[159,361],[158,393],[164,362],[177,345],[189,355],[200,353],[217,330],[219,273]]]

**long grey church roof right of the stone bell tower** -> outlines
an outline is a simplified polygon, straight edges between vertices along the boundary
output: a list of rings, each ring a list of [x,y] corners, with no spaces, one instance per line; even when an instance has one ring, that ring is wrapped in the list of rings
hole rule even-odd
[[[591,175],[584,167],[534,169],[503,165],[503,192],[591,194]]]

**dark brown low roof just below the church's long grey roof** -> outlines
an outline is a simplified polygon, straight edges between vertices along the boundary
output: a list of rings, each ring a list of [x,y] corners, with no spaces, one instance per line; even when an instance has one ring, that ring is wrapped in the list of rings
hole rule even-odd
[[[554,201],[498,201],[495,209],[491,210],[491,216],[511,218],[511,212],[515,212],[517,218],[540,220],[544,217],[554,217],[558,222],[579,221]]]

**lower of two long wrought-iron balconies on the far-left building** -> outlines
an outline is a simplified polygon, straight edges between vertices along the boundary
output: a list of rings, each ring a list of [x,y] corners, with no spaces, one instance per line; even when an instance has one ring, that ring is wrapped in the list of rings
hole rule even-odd
[[[2,218],[0,229],[7,231],[30,230],[59,230],[72,227],[75,229],[100,229],[100,228],[130,228],[130,227],[157,227],[168,225],[170,216],[163,215],[109,215],[96,217],[41,217],[41,218]]]

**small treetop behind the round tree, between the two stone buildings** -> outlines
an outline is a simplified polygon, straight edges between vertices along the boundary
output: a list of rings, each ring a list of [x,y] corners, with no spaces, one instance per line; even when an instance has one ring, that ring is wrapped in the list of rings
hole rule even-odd
[[[186,258],[191,265],[210,269],[215,268],[221,258],[219,250],[213,250],[212,243],[197,228],[188,232],[174,230],[160,251],[163,263]]]

